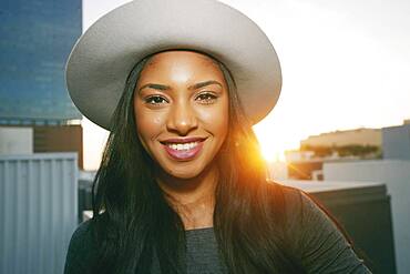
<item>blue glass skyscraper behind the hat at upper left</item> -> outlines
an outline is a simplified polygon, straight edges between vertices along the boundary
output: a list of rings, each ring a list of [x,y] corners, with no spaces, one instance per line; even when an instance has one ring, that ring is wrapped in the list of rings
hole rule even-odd
[[[81,0],[1,0],[0,124],[81,119],[64,82],[81,32]]]

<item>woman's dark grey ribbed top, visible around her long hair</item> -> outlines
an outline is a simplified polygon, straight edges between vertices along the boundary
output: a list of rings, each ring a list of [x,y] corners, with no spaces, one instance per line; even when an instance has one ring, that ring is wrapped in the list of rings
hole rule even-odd
[[[370,273],[363,262],[352,251],[346,239],[307,195],[299,190],[283,186],[288,233],[288,243],[295,257],[306,273]],[[198,229],[186,231],[187,274],[227,274],[223,260],[218,256],[214,230]],[[92,273],[89,270],[95,258],[90,233],[90,221],[82,223],[74,232],[65,261],[64,274]],[[160,274],[154,260],[147,273]]]

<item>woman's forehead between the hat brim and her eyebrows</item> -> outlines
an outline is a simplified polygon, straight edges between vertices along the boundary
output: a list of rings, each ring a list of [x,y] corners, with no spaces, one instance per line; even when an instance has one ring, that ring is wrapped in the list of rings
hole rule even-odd
[[[215,60],[195,51],[165,51],[153,55],[141,72],[140,82],[152,78],[216,78],[223,72]]]

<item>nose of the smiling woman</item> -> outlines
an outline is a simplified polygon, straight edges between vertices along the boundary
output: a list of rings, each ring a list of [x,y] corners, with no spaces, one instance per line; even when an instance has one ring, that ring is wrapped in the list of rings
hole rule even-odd
[[[187,135],[191,131],[197,129],[197,118],[195,110],[185,100],[175,102],[172,106],[167,123],[167,130],[178,135]]]

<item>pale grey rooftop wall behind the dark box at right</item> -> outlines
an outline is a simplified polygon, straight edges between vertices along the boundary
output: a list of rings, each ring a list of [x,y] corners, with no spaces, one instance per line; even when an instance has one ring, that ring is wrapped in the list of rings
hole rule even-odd
[[[410,161],[380,160],[325,163],[326,181],[372,181],[387,185],[391,196],[398,274],[410,272]]]

